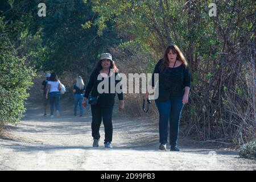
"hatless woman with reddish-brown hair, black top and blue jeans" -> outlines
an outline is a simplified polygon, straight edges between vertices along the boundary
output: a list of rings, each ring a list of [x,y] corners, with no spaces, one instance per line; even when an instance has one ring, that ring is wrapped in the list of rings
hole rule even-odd
[[[183,105],[188,103],[191,76],[188,63],[175,44],[171,44],[166,48],[163,59],[160,59],[155,66],[154,73],[159,74],[159,97],[155,100],[159,111],[159,150],[166,151],[169,120],[171,151],[179,151],[176,145],[180,114]],[[152,86],[155,86],[154,73]],[[149,93],[147,92],[144,96],[145,100],[147,100],[148,95]]]

